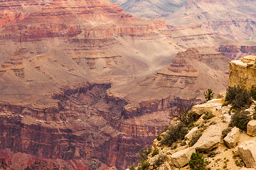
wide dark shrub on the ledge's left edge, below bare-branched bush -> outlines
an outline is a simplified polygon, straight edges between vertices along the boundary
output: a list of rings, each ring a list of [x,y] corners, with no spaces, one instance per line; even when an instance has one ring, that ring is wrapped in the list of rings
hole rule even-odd
[[[183,123],[178,125],[173,125],[169,127],[166,134],[162,137],[161,145],[166,145],[171,147],[171,145],[177,140],[183,140],[185,135],[188,133],[188,128],[185,128]]]

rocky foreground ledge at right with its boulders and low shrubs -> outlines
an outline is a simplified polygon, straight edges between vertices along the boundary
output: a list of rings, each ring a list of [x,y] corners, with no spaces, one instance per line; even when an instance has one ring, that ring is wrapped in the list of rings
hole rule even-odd
[[[229,86],[239,85],[248,90],[255,85],[255,59],[247,56],[230,63]],[[198,120],[186,127],[187,132],[186,128],[179,128],[169,139],[170,134],[175,134],[176,125],[183,122],[181,118],[172,120],[172,128],[166,128],[154,140],[151,152],[147,152],[135,169],[193,169],[190,160],[195,161],[196,152],[203,153],[201,161],[206,162],[206,169],[256,169],[256,102],[252,100],[250,106],[238,109],[228,104],[225,96],[223,92],[217,98],[193,106],[188,113],[199,116]],[[237,120],[239,123],[235,124]],[[182,132],[186,135],[176,137]]]

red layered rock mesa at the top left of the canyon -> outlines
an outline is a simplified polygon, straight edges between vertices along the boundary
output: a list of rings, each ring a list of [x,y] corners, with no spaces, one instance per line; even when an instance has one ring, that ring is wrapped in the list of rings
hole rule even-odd
[[[41,38],[114,38],[115,35],[146,35],[166,28],[161,20],[134,18],[110,1],[55,0],[31,13],[22,22],[5,25],[0,39],[33,41]]]

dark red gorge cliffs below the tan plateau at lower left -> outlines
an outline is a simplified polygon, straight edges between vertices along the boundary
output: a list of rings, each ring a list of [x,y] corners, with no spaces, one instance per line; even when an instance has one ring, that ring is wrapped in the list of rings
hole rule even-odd
[[[108,96],[109,88],[110,84],[65,87],[52,95],[58,101],[54,108],[1,103],[1,149],[50,162],[61,159],[66,165],[60,165],[67,169],[72,169],[70,160],[82,162],[80,159],[92,157],[107,166],[124,169],[137,161],[138,150],[151,142],[167,122],[150,124],[149,118],[149,124],[129,123],[131,115],[124,108],[127,101]],[[150,112],[137,108],[141,112],[132,118],[154,113],[155,107]],[[150,106],[146,108],[150,110]],[[9,159],[6,164],[14,166],[14,158]],[[82,164],[83,168],[87,166]]]

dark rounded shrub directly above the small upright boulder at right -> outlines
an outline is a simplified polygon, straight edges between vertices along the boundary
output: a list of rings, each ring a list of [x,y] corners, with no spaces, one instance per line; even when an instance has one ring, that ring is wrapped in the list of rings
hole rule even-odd
[[[250,116],[248,115],[250,112],[248,111],[235,111],[235,113],[231,117],[230,125],[232,127],[237,127],[240,130],[246,132],[247,130],[247,123],[251,120]]]

